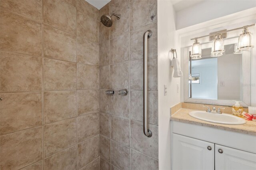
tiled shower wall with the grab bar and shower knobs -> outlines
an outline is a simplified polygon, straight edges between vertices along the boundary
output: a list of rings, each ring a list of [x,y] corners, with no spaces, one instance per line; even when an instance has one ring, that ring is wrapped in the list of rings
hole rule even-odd
[[[100,169],[158,169],[157,1],[112,0],[100,10],[112,16],[100,23]],[[143,134],[143,34],[148,39],[148,122]],[[113,96],[105,90],[114,89]],[[128,95],[118,95],[127,89]]]

